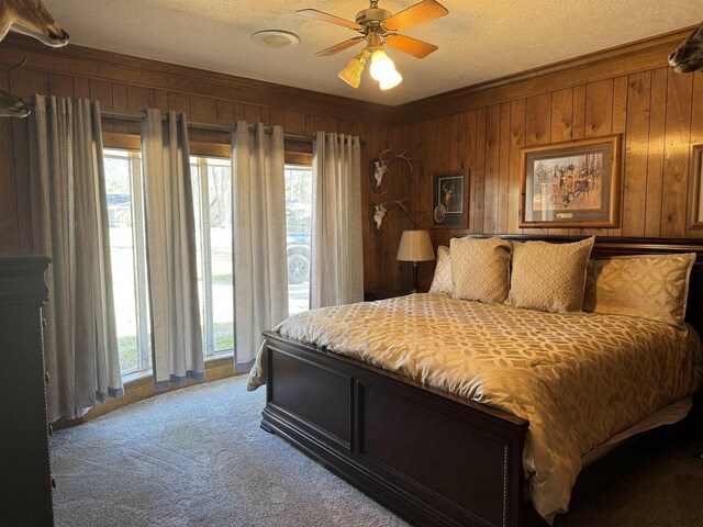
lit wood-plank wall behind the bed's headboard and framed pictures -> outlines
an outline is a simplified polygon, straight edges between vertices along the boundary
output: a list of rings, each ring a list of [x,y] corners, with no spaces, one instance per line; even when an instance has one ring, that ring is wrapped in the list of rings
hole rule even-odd
[[[429,228],[435,246],[448,245],[460,232],[703,237],[703,229],[691,228],[690,191],[691,147],[703,143],[703,71],[677,74],[666,66],[667,54],[663,46],[646,59],[635,57],[615,69],[620,75],[603,75],[603,65],[579,66],[576,82],[563,75],[546,78],[527,94],[526,82],[516,80],[488,92],[453,96],[445,105],[443,96],[409,105],[406,122],[393,131],[401,138],[399,148],[410,148],[417,159],[408,186],[408,228]],[[424,117],[432,104],[435,116],[413,119],[413,112]],[[521,148],[610,134],[622,134],[623,141],[620,226],[518,228]],[[433,229],[432,173],[458,169],[470,172],[468,228]],[[424,288],[432,272],[432,265],[421,265]],[[389,287],[408,280],[406,273],[398,274]]]

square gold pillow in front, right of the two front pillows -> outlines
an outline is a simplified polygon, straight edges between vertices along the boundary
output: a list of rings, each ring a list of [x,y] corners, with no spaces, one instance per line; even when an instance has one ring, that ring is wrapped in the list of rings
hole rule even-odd
[[[551,313],[581,311],[593,242],[591,236],[574,244],[515,244],[506,304]]]

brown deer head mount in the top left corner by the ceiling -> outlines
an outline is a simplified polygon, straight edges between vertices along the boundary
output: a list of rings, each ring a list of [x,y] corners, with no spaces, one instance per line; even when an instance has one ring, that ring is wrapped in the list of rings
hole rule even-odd
[[[68,44],[68,33],[41,0],[0,0],[0,41],[9,31],[33,36],[52,47]]]

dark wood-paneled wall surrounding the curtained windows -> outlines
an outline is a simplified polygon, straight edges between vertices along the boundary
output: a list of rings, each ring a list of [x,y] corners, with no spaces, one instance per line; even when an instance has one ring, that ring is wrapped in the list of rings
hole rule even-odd
[[[279,124],[291,134],[323,130],[358,135],[368,143],[361,149],[364,206],[359,211],[367,226],[365,281],[367,288],[380,284],[382,274],[377,272],[376,260],[384,256],[383,248],[390,244],[383,237],[400,226],[394,225],[390,215],[390,228],[380,237],[371,227],[368,214],[371,191],[366,167],[371,157],[387,147],[389,126],[379,124],[379,120],[386,119],[387,106],[79,46],[49,49],[14,35],[3,42],[0,63],[15,63],[24,55],[29,57],[25,67],[0,74],[0,87],[22,97],[42,93],[86,98],[100,101],[101,108],[108,110],[183,111],[191,121],[216,124],[244,119]],[[0,120],[0,256],[26,255],[33,250],[27,123],[29,120]],[[103,127],[104,132],[138,134],[138,125],[134,123],[104,121]],[[198,131],[191,132],[191,139],[228,142],[227,136]],[[379,243],[381,238],[383,242]]]

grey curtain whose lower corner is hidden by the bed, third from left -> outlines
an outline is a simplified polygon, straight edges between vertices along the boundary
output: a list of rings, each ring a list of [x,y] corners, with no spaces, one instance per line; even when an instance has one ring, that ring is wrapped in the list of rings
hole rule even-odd
[[[288,316],[283,131],[254,128],[238,121],[232,131],[234,363],[241,370],[253,365],[261,332]]]

